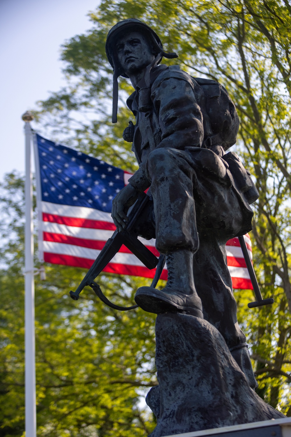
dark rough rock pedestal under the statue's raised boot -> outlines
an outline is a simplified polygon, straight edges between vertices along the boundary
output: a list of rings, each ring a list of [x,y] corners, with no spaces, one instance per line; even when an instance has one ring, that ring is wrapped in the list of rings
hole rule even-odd
[[[146,402],[157,417],[150,437],[285,417],[250,387],[209,322],[181,313],[156,319],[159,385]]]

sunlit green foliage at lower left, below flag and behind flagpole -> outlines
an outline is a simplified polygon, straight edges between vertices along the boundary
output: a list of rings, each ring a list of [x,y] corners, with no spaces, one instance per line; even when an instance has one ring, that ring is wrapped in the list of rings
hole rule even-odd
[[[0,436],[24,431],[23,187],[16,174],[0,187]],[[113,311],[91,289],[76,305],[68,291],[82,269],[48,265],[46,274],[45,281],[36,277],[35,289],[38,436],[147,435],[152,417],[139,395],[157,383],[154,317]],[[104,274],[99,284],[128,306],[140,279]]]

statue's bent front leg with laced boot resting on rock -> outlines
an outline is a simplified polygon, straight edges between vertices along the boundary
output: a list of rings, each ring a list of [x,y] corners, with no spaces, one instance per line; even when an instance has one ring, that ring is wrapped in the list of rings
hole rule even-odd
[[[168,282],[163,290],[139,288],[135,300],[148,312],[183,311],[202,318],[193,278],[193,253],[199,240],[191,156],[161,148],[150,153],[147,163],[154,200],[156,247],[166,254]]]

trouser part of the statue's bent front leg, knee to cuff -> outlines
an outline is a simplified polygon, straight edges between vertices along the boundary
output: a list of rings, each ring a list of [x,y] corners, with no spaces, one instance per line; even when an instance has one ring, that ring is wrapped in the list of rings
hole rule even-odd
[[[161,148],[147,160],[154,199],[156,247],[161,253],[199,246],[193,199],[193,170],[188,153]]]

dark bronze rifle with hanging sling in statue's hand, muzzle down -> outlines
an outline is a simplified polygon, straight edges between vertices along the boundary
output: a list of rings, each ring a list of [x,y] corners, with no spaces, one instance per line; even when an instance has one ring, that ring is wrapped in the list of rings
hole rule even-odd
[[[150,250],[147,249],[146,246],[144,246],[143,243],[140,242],[139,239],[137,239],[137,236],[139,234],[137,225],[139,225],[139,229],[140,229],[140,223],[142,222],[143,213],[145,212],[145,209],[150,202],[151,202],[150,197],[147,196],[147,194],[145,193],[139,194],[137,201],[130,208],[128,212],[127,228],[123,229],[120,232],[116,229],[116,231],[113,232],[112,237],[108,239],[107,242],[105,243],[103,249],[99,253],[94,263],[92,264],[92,267],[89,269],[86,276],[79,284],[79,287],[76,289],[76,291],[70,291],[70,296],[72,299],[78,300],[79,295],[83,290],[83,288],[86,285],[89,285],[93,289],[93,291],[95,291],[96,295],[100,298],[100,300],[113,309],[119,309],[121,311],[125,311],[128,309],[134,309],[138,307],[138,305],[133,305],[130,307],[121,307],[113,304],[103,295],[101,288],[94,281],[94,279],[101,273],[101,271],[103,271],[103,269],[110,262],[110,260],[112,260],[114,255],[116,255],[116,253],[120,250],[120,247],[123,244],[132,253],[134,253],[134,255],[148,269],[154,269],[155,267],[157,267],[157,271],[152,282],[152,286],[154,287],[156,286],[157,281],[161,276],[161,272],[164,268],[165,257],[164,255],[161,255],[159,258],[157,258]]]

